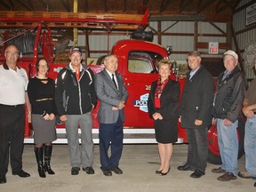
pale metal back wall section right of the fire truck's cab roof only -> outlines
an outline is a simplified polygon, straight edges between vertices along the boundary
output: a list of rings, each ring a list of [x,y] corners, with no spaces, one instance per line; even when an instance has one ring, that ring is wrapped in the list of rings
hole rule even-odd
[[[164,33],[174,33],[174,34],[182,34],[182,36],[164,36],[162,35],[162,45],[165,47],[167,45],[172,45],[173,51],[178,52],[186,52],[183,54],[175,54],[171,55],[171,60],[186,60],[187,52],[193,51],[195,46],[195,38],[191,36],[195,32],[195,22],[194,21],[179,21],[175,24],[176,21],[162,21],[161,28]],[[173,25],[175,24],[175,25]],[[227,31],[226,23],[214,23],[216,26],[221,28],[223,31]],[[173,26],[172,26],[173,25]],[[157,22],[150,22],[149,26],[151,28],[157,28]],[[170,28],[172,26],[172,28]],[[167,29],[167,30],[166,30]],[[166,30],[166,31],[165,31]],[[227,43],[225,37],[218,36],[204,36],[204,34],[220,34],[220,31],[210,25],[208,22],[198,22],[198,42],[209,43]],[[184,34],[188,34],[190,36],[184,36]],[[154,42],[157,43],[157,39],[154,39]],[[208,50],[199,50],[202,52],[208,52]],[[221,55],[208,55],[205,54],[203,57],[211,57],[211,58],[220,58]]]

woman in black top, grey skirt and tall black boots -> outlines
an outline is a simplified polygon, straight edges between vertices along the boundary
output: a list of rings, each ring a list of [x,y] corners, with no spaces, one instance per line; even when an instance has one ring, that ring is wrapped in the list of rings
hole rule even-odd
[[[50,161],[52,141],[57,139],[55,129],[56,108],[54,104],[55,83],[53,79],[46,76],[48,71],[48,61],[44,58],[37,60],[36,77],[30,79],[28,83],[28,98],[32,107],[31,120],[34,130],[36,162],[39,176],[42,178],[45,178],[44,172],[55,174],[52,171]]]

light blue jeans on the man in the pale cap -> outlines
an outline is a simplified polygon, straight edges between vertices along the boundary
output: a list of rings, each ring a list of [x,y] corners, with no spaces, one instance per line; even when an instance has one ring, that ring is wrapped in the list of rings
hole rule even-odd
[[[217,119],[218,143],[221,156],[221,168],[237,175],[238,137],[236,128],[238,121],[231,126],[224,125],[224,119]]]

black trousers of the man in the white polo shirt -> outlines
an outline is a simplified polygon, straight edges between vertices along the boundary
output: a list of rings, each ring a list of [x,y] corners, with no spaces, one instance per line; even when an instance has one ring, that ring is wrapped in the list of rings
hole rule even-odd
[[[0,174],[8,171],[9,149],[12,172],[22,169],[25,105],[0,104]]]

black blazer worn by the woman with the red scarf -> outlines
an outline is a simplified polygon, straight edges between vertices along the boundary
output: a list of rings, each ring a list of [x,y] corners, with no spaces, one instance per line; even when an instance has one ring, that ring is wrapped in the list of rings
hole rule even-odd
[[[180,84],[169,79],[165,84],[164,90],[160,97],[161,108],[155,108],[155,92],[157,81],[151,84],[151,91],[148,96],[148,114],[153,118],[153,114],[158,112],[163,116],[164,120],[172,120],[170,126],[177,126],[177,118],[179,116],[178,107],[180,100]],[[176,124],[176,125],[175,125]]]

